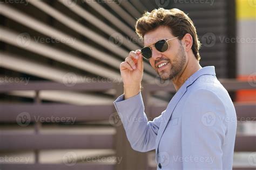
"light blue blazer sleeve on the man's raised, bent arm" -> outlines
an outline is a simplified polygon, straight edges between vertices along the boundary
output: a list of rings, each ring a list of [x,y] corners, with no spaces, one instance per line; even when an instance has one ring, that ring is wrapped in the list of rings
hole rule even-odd
[[[153,121],[147,121],[142,94],[127,100],[124,100],[123,94],[113,103],[133,150],[147,152],[155,149],[161,115]]]

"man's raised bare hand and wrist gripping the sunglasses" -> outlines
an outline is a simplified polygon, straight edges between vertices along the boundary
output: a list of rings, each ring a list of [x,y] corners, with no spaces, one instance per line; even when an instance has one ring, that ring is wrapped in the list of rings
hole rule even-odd
[[[125,99],[137,95],[143,77],[143,56],[139,49],[131,51],[120,64],[120,73],[124,83]]]

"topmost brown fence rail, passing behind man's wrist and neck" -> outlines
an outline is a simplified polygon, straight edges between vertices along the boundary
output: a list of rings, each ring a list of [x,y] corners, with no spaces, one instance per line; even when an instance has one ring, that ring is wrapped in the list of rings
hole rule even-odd
[[[239,90],[239,89],[256,89],[250,85],[248,81],[238,81],[235,79],[219,79],[227,90]],[[62,83],[56,82],[44,82],[33,81],[26,83],[1,83],[0,92],[6,92],[11,90],[86,90],[86,91],[104,91],[116,88],[119,83],[113,82],[92,82],[92,83],[76,83],[72,87],[65,86]],[[144,88],[149,91],[166,90],[176,91],[173,84],[170,86],[159,87],[156,84],[145,84]]]

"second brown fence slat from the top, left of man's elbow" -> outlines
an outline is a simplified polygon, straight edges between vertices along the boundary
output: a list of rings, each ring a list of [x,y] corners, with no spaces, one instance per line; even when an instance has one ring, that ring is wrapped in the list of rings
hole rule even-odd
[[[24,116],[22,114],[23,112],[27,113],[27,118],[30,117],[31,122],[37,121],[39,117],[41,117],[42,120],[48,117],[70,117],[74,118],[76,122],[103,121],[109,119],[109,116],[112,114],[113,110],[113,105],[71,105],[56,103],[0,104],[0,122],[16,122],[17,116]],[[23,119],[23,117],[21,117],[21,119]],[[39,119],[37,122],[42,121]]]

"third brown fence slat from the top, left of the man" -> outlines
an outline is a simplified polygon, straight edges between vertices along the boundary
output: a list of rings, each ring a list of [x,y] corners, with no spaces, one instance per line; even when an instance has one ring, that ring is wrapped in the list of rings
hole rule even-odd
[[[112,134],[0,134],[0,150],[112,149]]]

